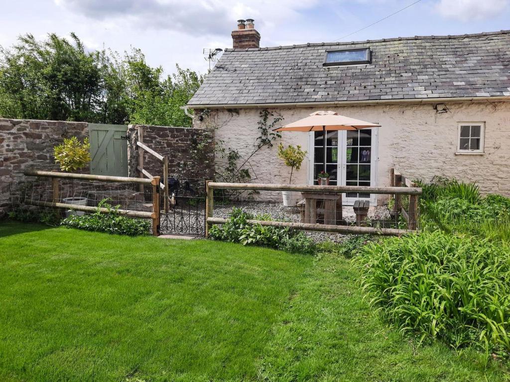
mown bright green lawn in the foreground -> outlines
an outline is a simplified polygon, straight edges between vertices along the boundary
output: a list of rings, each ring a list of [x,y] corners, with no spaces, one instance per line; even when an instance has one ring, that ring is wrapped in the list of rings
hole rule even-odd
[[[0,225],[0,380],[502,381],[417,347],[345,259]]]

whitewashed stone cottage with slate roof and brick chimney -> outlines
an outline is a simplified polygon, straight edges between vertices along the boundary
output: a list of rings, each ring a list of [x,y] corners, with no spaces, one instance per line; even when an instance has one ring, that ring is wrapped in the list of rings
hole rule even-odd
[[[261,48],[253,20],[240,20],[232,37],[188,104],[216,142],[246,157],[261,110],[281,115],[277,126],[334,111],[381,127],[327,133],[332,184],[385,186],[397,168],[510,195],[510,31]],[[284,132],[282,142],[308,151],[295,182],[317,184],[322,132]],[[258,182],[288,181],[276,147],[259,150],[250,168]]]

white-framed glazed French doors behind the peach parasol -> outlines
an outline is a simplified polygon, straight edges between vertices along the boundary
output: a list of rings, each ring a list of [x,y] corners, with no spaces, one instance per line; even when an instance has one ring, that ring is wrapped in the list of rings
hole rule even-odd
[[[323,132],[310,133],[310,184],[318,184],[317,175],[324,169]],[[375,186],[377,182],[377,129],[326,131],[326,172],[329,184],[348,186]],[[375,196],[365,193],[346,193],[343,204],[369,200],[375,205]]]

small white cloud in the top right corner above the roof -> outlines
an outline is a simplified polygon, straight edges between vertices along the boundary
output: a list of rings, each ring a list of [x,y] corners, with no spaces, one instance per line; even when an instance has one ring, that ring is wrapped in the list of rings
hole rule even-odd
[[[510,0],[440,0],[436,11],[446,18],[479,21],[498,15],[509,4]]]

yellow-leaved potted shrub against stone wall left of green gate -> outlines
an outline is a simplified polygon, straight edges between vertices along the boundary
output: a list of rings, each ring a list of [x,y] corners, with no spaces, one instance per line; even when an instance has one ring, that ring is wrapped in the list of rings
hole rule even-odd
[[[89,139],[85,138],[81,143],[78,138],[64,138],[64,143],[55,146],[53,149],[55,155],[55,162],[59,164],[60,170],[66,172],[74,172],[86,167],[90,162],[90,143]],[[64,198],[63,202],[66,204],[75,204],[80,206],[87,205],[87,198],[74,197],[74,181],[71,183],[70,198]],[[66,211],[66,216],[69,215],[83,215],[83,211]]]

